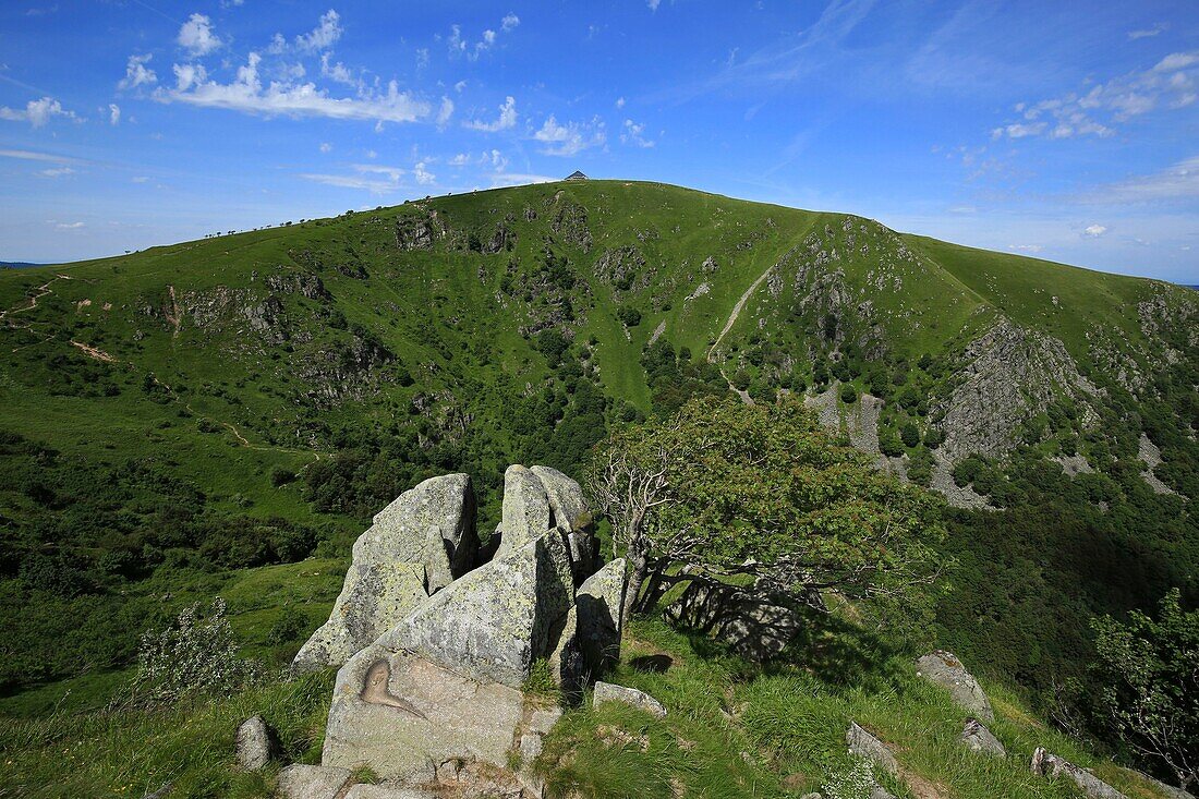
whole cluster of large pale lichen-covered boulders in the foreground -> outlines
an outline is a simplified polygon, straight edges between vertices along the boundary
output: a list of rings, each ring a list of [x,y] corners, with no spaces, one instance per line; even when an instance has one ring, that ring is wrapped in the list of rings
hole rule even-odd
[[[619,657],[625,564],[600,564],[579,485],[546,467],[507,469],[488,543],[465,474],[426,480],[374,517],[294,662],[339,671],[321,765],[284,769],[284,795],[291,783],[318,795],[301,791],[313,781],[341,791],[362,768],[405,797],[537,794],[511,767],[541,751],[561,710],[525,689],[548,672],[577,696]]]

